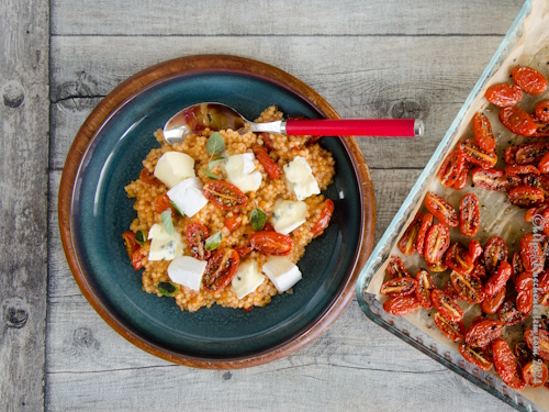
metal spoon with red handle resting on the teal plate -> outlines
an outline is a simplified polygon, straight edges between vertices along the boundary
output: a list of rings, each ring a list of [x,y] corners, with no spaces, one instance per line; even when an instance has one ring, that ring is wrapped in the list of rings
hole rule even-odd
[[[199,103],[177,112],[164,126],[164,137],[172,145],[188,134],[206,127],[212,131],[232,129],[249,132],[267,132],[291,135],[316,136],[422,136],[424,126],[419,119],[289,119],[277,122],[254,123],[233,108],[222,103]]]

